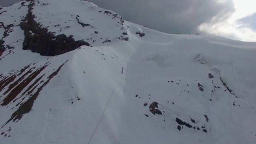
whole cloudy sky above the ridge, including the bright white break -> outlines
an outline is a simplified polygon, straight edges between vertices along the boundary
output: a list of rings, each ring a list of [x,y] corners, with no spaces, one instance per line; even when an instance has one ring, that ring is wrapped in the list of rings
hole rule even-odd
[[[20,0],[0,0],[6,6]],[[165,33],[256,42],[256,0],[88,0],[124,20]]]

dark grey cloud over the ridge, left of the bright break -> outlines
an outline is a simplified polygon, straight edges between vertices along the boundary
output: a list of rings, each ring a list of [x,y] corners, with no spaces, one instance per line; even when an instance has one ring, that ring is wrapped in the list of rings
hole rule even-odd
[[[220,22],[232,14],[232,0],[89,0],[124,20],[166,33],[199,32],[202,23]]]

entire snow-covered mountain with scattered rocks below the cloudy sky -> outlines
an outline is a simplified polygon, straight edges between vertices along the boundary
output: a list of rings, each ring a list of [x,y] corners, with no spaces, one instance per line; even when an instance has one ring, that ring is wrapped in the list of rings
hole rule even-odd
[[[0,24],[1,144],[256,143],[256,42],[82,0],[22,1]]]

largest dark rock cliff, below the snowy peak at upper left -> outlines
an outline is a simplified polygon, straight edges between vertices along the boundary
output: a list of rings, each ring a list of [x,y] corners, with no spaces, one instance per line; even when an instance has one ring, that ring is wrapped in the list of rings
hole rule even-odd
[[[20,28],[24,30],[25,39],[23,42],[23,50],[31,50],[42,56],[56,56],[70,52],[80,46],[90,46],[84,40],[75,41],[73,36],[60,34],[54,36],[48,32],[47,28],[42,27],[34,20],[32,9],[34,2],[31,1],[28,5],[28,14],[23,22],[20,23]],[[33,34],[31,32],[33,32]]]

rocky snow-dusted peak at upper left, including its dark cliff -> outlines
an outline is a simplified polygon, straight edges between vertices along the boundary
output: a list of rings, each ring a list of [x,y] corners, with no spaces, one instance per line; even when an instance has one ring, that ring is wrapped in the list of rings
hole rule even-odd
[[[82,45],[128,40],[121,16],[87,1],[22,1],[2,9],[0,14],[2,51],[14,47],[6,39],[11,39],[8,36],[19,27],[24,30],[23,49],[43,56],[63,54]]]

